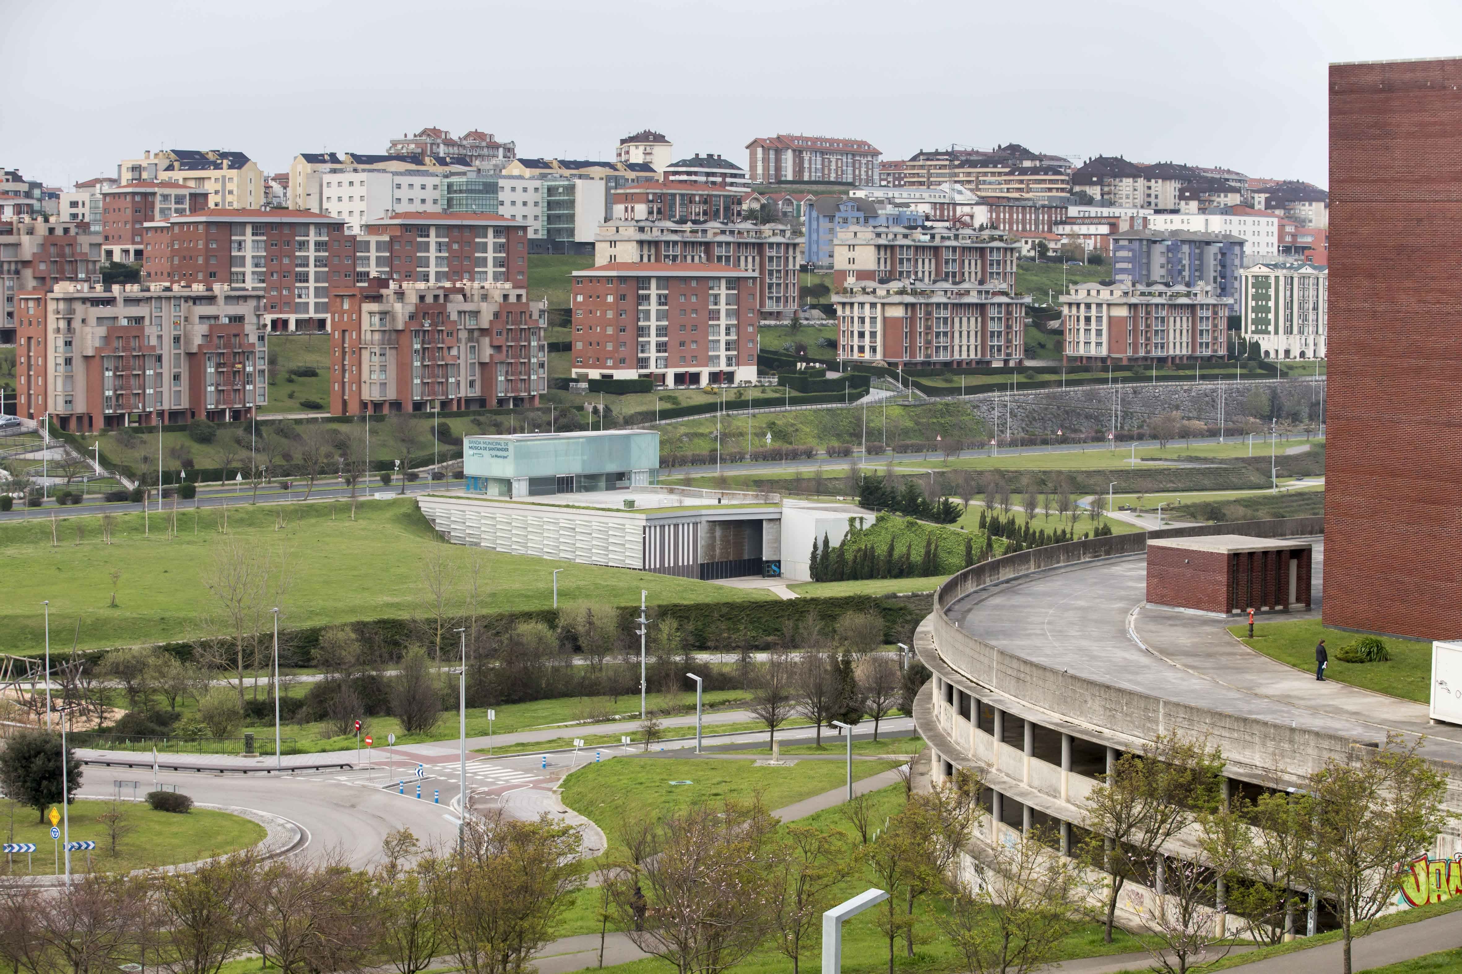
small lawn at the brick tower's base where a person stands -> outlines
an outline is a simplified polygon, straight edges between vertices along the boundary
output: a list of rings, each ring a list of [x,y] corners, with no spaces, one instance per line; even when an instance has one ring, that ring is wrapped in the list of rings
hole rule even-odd
[[[1247,625],[1231,625],[1228,631],[1240,637],[1244,645],[1306,673],[1314,672],[1314,644],[1323,637],[1325,648],[1330,651],[1330,664],[1325,667],[1325,679],[1421,704],[1430,699],[1427,694],[1431,683],[1430,643],[1387,638],[1386,648],[1390,650],[1390,662],[1342,663],[1336,659],[1341,647],[1360,637],[1354,632],[1326,629],[1319,619],[1256,622],[1253,640],[1244,638],[1249,632]]]

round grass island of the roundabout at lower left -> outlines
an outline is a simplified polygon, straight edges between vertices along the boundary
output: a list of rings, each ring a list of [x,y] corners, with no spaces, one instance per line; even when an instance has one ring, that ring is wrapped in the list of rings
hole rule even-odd
[[[70,813],[70,837],[73,843],[92,840],[92,867],[98,872],[126,872],[152,866],[190,863],[209,856],[221,856],[259,843],[265,837],[263,825],[218,812],[193,809],[187,815],[154,812],[143,802],[123,802],[127,822],[136,828],[117,843],[113,857],[107,841],[107,829],[96,816],[111,808],[111,802],[73,802]],[[12,818],[13,825],[12,825]],[[28,805],[0,802],[0,831],[7,843],[35,843],[34,864],[37,875],[50,875],[56,859],[51,843],[51,824],[37,824],[37,810]],[[64,851],[63,851],[64,856]],[[25,872],[25,857],[13,859],[16,869]],[[86,853],[72,853],[72,870],[86,872]]]

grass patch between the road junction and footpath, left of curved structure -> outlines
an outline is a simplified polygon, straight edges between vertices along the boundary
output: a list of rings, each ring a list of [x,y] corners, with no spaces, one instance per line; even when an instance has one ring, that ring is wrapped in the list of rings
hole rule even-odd
[[[854,780],[896,767],[895,761],[858,761]],[[563,803],[604,829],[611,848],[623,848],[630,819],[656,816],[694,802],[747,802],[762,796],[772,812],[830,791],[846,778],[836,761],[803,761],[791,768],[759,768],[751,761],[715,758],[616,758],[591,764],[563,780]],[[690,781],[692,784],[670,784]]]

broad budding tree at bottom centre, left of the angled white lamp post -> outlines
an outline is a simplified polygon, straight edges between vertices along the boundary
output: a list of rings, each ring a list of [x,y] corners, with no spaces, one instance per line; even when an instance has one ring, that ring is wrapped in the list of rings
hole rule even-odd
[[[617,926],[683,974],[741,962],[775,929],[775,825],[757,803],[665,813],[658,854],[607,876]]]

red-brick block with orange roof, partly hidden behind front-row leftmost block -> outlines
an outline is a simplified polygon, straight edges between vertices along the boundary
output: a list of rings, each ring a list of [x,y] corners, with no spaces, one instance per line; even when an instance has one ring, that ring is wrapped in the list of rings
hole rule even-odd
[[[148,283],[257,288],[270,331],[325,331],[330,291],[355,286],[345,221],[308,210],[199,210],[143,226]]]

